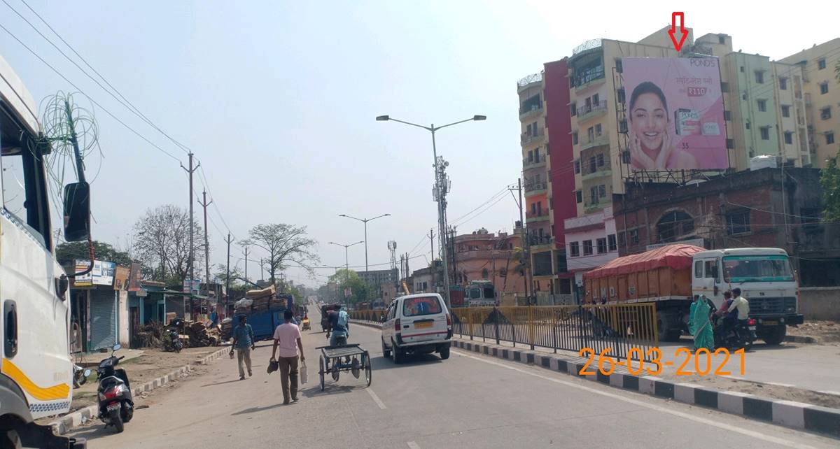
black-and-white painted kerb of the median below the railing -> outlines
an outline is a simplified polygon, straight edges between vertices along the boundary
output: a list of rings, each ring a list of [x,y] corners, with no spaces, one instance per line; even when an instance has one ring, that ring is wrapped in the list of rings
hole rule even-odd
[[[372,321],[354,320],[353,322],[376,329],[381,327],[381,324]],[[754,394],[722,391],[697,384],[671,382],[655,376],[628,373],[623,367],[617,367],[611,374],[606,375],[597,367],[590,366],[589,369],[594,370],[596,374],[582,375],[580,371],[588,358],[476,342],[468,338],[454,337],[452,346],[488,357],[536,365],[639,394],[673,399],[685,404],[772,422],[780,426],[840,437],[840,410],[838,409],[789,400],[762,398]]]

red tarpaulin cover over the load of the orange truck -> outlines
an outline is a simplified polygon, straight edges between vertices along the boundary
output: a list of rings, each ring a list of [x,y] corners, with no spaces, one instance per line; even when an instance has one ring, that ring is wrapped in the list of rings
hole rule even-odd
[[[705,248],[675,243],[664,247],[651,249],[644,253],[631,254],[607,262],[600,268],[593,269],[583,274],[584,279],[602,278],[618,274],[637,273],[662,267],[671,269],[686,269],[691,266],[691,257]]]

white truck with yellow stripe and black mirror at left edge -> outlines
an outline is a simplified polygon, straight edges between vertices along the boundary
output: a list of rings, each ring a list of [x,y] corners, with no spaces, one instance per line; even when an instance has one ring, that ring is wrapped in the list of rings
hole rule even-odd
[[[55,260],[45,158],[35,103],[0,57],[0,447],[85,447],[34,420],[73,399],[69,281]],[[64,191],[67,241],[87,240],[89,187]]]

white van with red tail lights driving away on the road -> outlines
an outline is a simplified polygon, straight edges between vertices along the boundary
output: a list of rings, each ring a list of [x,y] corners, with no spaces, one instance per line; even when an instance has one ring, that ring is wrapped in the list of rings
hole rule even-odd
[[[449,358],[452,344],[452,316],[437,293],[405,295],[391,301],[382,323],[382,354],[394,363],[409,352],[438,352]]]

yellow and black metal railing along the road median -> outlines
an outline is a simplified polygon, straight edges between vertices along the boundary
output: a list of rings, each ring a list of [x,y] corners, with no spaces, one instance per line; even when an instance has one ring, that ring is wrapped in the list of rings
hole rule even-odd
[[[371,325],[385,321],[386,310],[350,311],[350,319]],[[584,347],[612,358],[650,361],[659,346],[654,304],[534,305],[456,307],[452,330],[470,340],[512,342],[580,352]],[[631,349],[637,348],[631,353]]]

